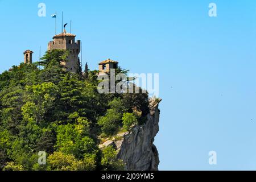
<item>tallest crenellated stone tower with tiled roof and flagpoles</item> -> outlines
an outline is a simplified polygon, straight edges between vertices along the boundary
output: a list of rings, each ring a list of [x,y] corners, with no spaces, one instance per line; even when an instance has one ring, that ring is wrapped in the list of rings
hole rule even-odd
[[[64,49],[68,50],[69,56],[67,58],[67,62],[63,62],[65,65],[66,71],[70,71],[72,73],[76,73],[78,56],[80,53],[80,40],[75,42],[76,35],[69,34],[64,29],[63,33],[57,34],[53,36],[53,41],[48,43],[48,51],[53,49]]]

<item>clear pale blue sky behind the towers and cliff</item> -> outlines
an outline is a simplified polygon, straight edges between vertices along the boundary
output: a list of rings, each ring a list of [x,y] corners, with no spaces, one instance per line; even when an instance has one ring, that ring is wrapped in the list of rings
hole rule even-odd
[[[61,32],[61,11],[90,69],[110,58],[131,73],[159,73],[160,170],[256,170],[256,1],[0,0],[0,73],[26,49],[38,61],[55,12]]]

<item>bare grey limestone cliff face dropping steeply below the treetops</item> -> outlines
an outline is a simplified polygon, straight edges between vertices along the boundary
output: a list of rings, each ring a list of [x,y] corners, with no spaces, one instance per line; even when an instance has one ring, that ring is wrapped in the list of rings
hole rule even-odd
[[[159,131],[158,104],[161,100],[151,98],[150,114],[144,125],[134,126],[131,131],[119,134],[121,138],[114,142],[118,150],[118,159],[125,163],[125,170],[156,171],[158,170],[158,150],[153,144]]]

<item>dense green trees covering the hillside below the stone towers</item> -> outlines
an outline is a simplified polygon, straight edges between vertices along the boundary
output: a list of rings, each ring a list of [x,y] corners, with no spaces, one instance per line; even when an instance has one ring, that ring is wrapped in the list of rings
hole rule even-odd
[[[97,71],[65,72],[68,52],[0,75],[0,170],[115,170],[123,163],[101,138],[142,124],[147,94],[100,94]],[[39,67],[41,69],[39,69]],[[117,72],[127,73],[121,68]],[[38,164],[45,151],[47,163]]]

